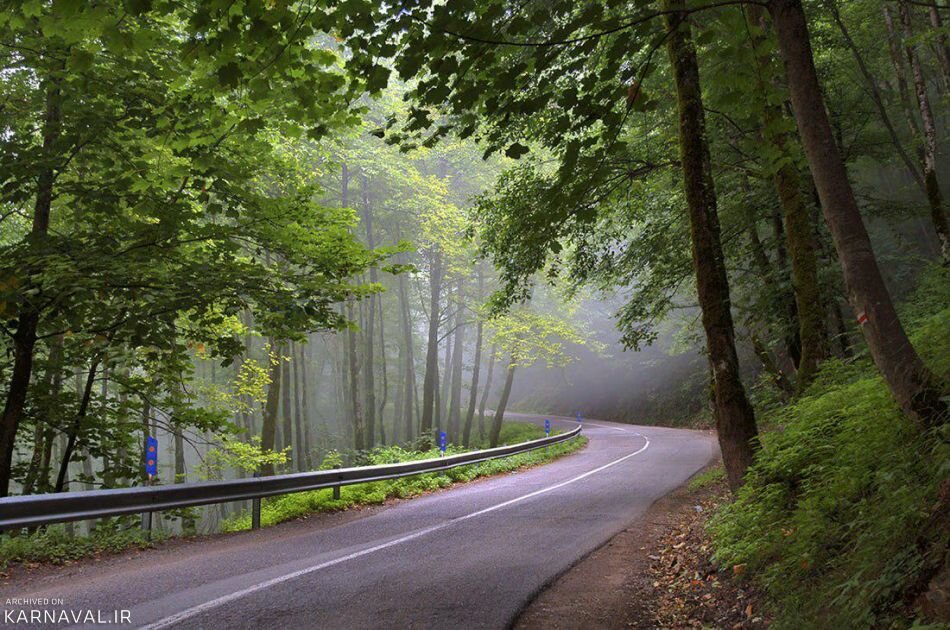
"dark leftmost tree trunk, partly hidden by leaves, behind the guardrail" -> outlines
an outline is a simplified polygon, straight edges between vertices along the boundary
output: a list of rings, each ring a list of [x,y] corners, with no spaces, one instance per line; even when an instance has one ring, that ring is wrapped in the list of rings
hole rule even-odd
[[[50,209],[53,205],[53,184],[56,180],[56,144],[61,132],[60,105],[62,94],[56,80],[47,78],[46,111],[43,121],[44,164],[40,168],[36,184],[36,201],[33,204],[33,225],[30,240],[34,247],[42,246],[49,233]],[[38,270],[37,270],[38,271]],[[28,293],[23,287],[21,296]],[[9,388],[0,417],[0,497],[10,492],[10,474],[13,466],[13,451],[16,448],[16,434],[26,404],[30,377],[33,373],[33,349],[36,346],[36,331],[39,327],[40,312],[33,298],[24,297],[20,304],[16,331],[13,333],[13,369],[10,374]]]

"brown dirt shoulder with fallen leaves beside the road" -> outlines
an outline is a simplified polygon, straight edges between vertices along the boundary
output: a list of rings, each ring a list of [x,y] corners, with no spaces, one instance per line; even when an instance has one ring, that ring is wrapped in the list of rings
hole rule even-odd
[[[705,524],[728,497],[715,468],[654,503],[640,521],[561,575],[514,627],[767,627],[761,593],[740,579],[744,567],[710,562]]]

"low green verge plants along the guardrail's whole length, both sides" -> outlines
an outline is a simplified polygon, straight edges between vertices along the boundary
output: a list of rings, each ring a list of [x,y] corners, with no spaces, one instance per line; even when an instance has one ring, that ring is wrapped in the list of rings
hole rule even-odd
[[[537,425],[527,422],[506,422],[502,427],[500,440],[502,444],[515,444],[540,437],[544,437],[544,431]],[[427,492],[448,488],[456,483],[539,466],[574,453],[586,445],[587,438],[579,436],[547,448],[461,466],[442,473],[353,484],[340,489],[339,499],[333,498],[332,490],[314,490],[272,497],[264,499],[261,506],[261,525],[267,527],[307,518],[317,513],[382,505],[393,499],[411,499]],[[465,450],[467,449],[451,446],[447,452],[455,454]],[[392,446],[376,448],[365,455],[365,465],[376,465],[438,457],[439,451],[438,448],[412,451]],[[324,461],[320,469],[333,468],[337,461],[338,458],[330,457]],[[194,514],[188,514],[183,510],[163,513],[162,516],[169,519],[191,518],[194,520]],[[250,518],[249,513],[241,512],[226,521],[222,530],[227,533],[249,530]],[[122,553],[133,548],[148,549],[177,538],[161,530],[147,535],[139,528],[137,521],[137,516],[102,519],[95,524],[89,536],[71,535],[62,525],[41,528],[30,535],[4,535],[0,537],[0,578],[9,577],[10,574],[6,570],[11,565],[36,569],[43,565],[69,564],[79,560]],[[194,532],[190,533],[191,536],[185,537],[193,538]]]

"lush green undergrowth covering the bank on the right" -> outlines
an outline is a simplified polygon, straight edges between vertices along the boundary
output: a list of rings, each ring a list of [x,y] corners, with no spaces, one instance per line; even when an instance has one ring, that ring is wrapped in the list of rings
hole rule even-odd
[[[950,309],[935,305],[950,300],[934,297],[946,293],[946,273],[928,280],[903,316],[947,382]],[[827,362],[768,421],[781,429],[763,435],[737,499],[710,523],[716,560],[747,566],[778,628],[914,623],[914,597],[947,560],[934,507],[950,474],[950,431],[922,433],[866,359]]]

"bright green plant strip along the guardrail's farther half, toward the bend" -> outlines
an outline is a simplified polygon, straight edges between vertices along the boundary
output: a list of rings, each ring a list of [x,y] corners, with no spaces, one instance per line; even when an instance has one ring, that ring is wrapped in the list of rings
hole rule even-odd
[[[520,431],[520,429],[511,429],[511,431]],[[512,442],[525,441],[526,439],[534,439],[535,437],[537,436],[522,436],[520,439],[512,440]],[[553,446],[537,449],[528,453],[512,455],[502,459],[493,459],[470,466],[460,466],[441,473],[428,473],[414,475],[412,477],[403,477],[402,479],[343,486],[340,488],[340,498],[337,500],[333,499],[332,489],[298,492],[273,499],[264,499],[261,505],[261,525],[276,525],[277,523],[315,512],[335,512],[359,505],[379,505],[387,499],[408,499],[431,490],[447,488],[455,483],[471,481],[478,477],[487,477],[544,464],[569,453],[573,453],[583,448],[586,444],[587,438],[578,436],[565,442],[559,442]],[[392,448],[376,449],[375,452],[378,452],[378,455],[374,456],[374,463],[388,464],[396,461],[411,461],[414,459],[425,459],[433,455],[437,456],[438,454],[438,451],[418,454],[412,453],[411,455],[407,454],[405,458],[401,458],[400,456],[402,454],[393,453],[392,451]],[[452,454],[452,449],[450,449],[447,454]],[[224,531],[239,531],[250,529],[250,527],[251,516],[248,513],[230,519],[223,525]]]

